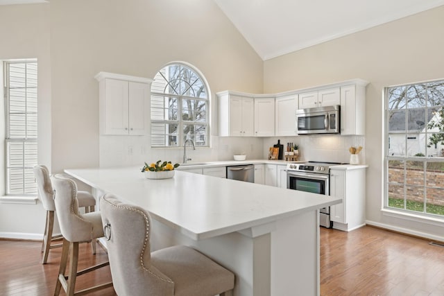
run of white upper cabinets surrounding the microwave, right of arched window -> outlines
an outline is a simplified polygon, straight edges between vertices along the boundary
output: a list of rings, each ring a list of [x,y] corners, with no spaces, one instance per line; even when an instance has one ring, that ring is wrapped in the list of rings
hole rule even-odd
[[[297,136],[296,110],[332,105],[341,105],[341,134],[363,135],[366,85],[353,79],[279,94],[219,92],[219,136]]]

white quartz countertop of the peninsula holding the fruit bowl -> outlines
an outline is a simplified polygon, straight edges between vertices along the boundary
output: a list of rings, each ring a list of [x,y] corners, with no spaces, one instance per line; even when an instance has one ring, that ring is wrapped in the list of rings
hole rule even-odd
[[[65,173],[147,209],[156,220],[194,240],[273,223],[342,201],[178,170],[173,178],[164,180],[146,179],[139,167],[76,168]]]

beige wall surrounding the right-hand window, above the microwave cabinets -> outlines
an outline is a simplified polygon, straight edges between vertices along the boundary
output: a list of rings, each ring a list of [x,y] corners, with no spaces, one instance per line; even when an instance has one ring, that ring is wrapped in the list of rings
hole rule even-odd
[[[366,92],[367,219],[442,237],[442,227],[383,216],[382,90],[444,78],[444,6],[264,62],[264,92],[363,78]]]

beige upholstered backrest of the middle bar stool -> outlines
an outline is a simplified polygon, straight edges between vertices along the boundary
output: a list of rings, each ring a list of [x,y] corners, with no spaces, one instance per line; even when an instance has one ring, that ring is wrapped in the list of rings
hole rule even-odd
[[[62,175],[55,175],[51,180],[62,236],[71,242],[92,241],[93,225],[78,213],[76,182]]]

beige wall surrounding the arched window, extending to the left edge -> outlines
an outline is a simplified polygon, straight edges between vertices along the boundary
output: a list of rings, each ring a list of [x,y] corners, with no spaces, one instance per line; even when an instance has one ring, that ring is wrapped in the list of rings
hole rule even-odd
[[[99,71],[153,78],[180,60],[203,73],[213,98],[228,88],[262,91],[262,60],[214,1],[0,6],[0,35],[0,59],[39,59],[39,162],[52,173],[99,165]],[[254,143],[262,155],[262,141]],[[43,229],[40,203],[0,203],[0,237],[41,238]]]

